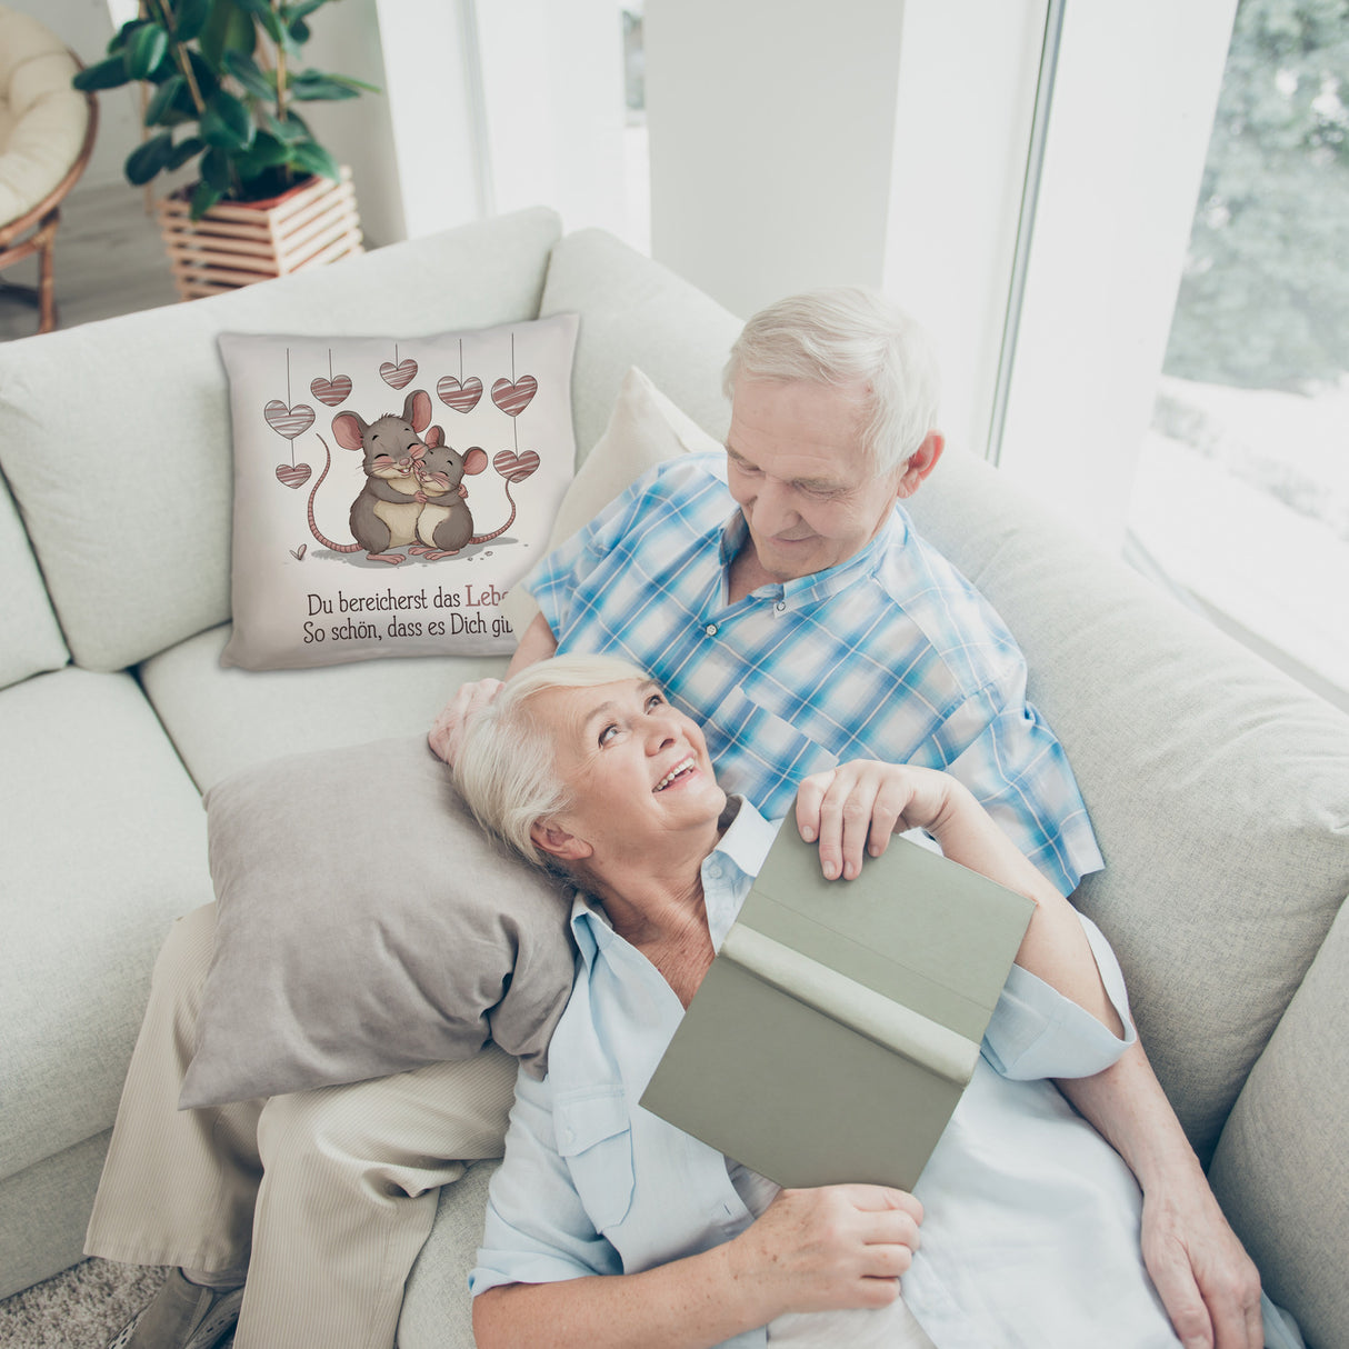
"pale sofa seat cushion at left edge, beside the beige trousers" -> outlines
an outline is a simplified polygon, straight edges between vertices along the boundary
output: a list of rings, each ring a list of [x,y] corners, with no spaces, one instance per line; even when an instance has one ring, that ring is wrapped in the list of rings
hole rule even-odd
[[[201,801],[130,674],[0,697],[0,1175],[107,1129],[173,919],[210,900]]]

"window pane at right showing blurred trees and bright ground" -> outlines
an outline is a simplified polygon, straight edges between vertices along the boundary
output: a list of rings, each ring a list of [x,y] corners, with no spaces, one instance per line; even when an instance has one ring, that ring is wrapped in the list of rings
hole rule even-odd
[[[1349,4],[1241,0],[1129,553],[1349,706]]]

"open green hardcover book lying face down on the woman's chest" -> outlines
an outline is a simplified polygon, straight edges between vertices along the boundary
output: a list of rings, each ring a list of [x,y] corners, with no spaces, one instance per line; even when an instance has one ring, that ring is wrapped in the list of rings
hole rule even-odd
[[[1033,912],[904,838],[826,881],[788,816],[641,1103],[781,1186],[912,1190]]]

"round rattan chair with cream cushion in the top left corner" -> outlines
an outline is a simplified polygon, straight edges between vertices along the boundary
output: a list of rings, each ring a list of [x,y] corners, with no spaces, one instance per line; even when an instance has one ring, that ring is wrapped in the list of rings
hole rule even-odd
[[[36,286],[4,286],[57,325],[53,244],[59,204],[89,163],[98,105],[71,88],[78,61],[43,24],[0,5],[0,270],[38,255]]]

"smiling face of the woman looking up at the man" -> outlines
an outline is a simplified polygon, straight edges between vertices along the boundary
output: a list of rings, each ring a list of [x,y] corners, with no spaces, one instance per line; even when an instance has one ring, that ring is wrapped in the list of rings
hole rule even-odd
[[[707,741],[652,680],[554,688],[530,700],[552,738],[571,805],[554,823],[596,858],[665,850],[701,839],[726,807]]]

